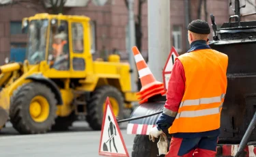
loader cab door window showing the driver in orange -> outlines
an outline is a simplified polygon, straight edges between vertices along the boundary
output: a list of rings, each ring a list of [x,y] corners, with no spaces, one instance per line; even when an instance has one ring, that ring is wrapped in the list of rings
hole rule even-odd
[[[51,20],[48,62],[56,70],[69,70],[68,22]]]

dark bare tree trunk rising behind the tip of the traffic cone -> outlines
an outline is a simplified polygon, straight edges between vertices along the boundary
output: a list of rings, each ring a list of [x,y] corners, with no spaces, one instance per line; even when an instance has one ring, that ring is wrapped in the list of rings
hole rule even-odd
[[[137,14],[137,18],[135,18],[135,37],[136,37],[136,46],[139,48],[139,50],[141,50],[142,47],[142,37],[143,37],[143,33],[142,33],[142,29],[141,29],[141,17],[142,17],[142,5],[143,3],[145,3],[146,0],[138,0],[139,1],[139,5],[138,5],[138,14]],[[126,8],[128,9],[128,0],[124,0],[124,3],[126,4]]]

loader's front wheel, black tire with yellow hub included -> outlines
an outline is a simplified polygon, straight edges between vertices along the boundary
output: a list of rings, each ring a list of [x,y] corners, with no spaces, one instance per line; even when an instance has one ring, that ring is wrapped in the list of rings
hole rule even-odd
[[[42,83],[27,83],[11,98],[10,121],[20,134],[40,134],[55,124],[57,100]]]

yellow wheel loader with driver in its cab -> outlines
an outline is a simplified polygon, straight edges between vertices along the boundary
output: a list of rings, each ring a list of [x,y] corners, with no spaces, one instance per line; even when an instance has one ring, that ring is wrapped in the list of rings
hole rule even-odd
[[[117,55],[93,61],[88,17],[35,14],[23,19],[23,29],[24,63],[0,67],[0,128],[10,117],[20,134],[39,134],[67,129],[84,115],[100,130],[107,96],[119,119],[138,101],[128,63]]]

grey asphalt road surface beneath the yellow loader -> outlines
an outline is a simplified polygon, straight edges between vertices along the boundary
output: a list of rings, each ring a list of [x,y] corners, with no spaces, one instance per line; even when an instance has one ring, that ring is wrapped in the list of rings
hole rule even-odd
[[[123,126],[123,127],[122,127]],[[131,156],[134,135],[121,132]],[[0,132],[0,156],[3,157],[94,157],[98,155],[100,131],[93,131],[86,122],[74,122],[67,132],[20,135],[10,123]]]

